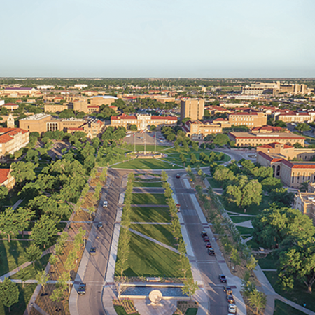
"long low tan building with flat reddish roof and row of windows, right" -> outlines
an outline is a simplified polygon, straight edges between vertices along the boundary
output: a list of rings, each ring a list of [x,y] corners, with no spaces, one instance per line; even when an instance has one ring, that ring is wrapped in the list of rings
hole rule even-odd
[[[230,132],[229,137],[231,141],[235,141],[235,146],[260,146],[262,144],[269,144],[272,142],[279,142],[281,144],[299,143],[304,146],[305,138],[298,134],[291,132],[275,132],[275,133],[255,133],[255,132]]]

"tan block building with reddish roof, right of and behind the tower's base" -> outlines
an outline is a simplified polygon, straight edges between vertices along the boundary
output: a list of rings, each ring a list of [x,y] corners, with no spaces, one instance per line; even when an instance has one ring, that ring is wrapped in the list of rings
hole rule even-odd
[[[234,126],[260,127],[267,125],[267,114],[259,111],[243,111],[241,113],[231,113],[228,120]]]

